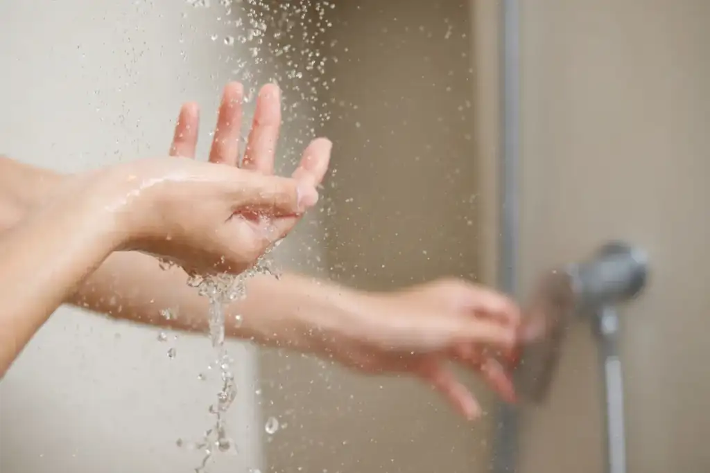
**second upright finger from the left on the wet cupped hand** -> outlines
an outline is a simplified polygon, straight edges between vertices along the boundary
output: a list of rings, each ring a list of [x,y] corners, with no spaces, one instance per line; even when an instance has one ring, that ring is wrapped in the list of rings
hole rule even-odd
[[[219,104],[217,128],[214,130],[212,148],[209,150],[209,162],[237,165],[243,97],[244,87],[239,82],[230,82],[224,87],[222,103]]]

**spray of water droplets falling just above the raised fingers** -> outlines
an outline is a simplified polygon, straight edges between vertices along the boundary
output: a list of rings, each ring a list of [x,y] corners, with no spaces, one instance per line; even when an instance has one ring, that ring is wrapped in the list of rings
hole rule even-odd
[[[207,32],[211,42],[226,48],[224,61],[231,79],[244,84],[244,101],[254,104],[261,85],[278,84],[283,96],[283,122],[293,139],[285,145],[287,157],[300,157],[303,146],[331,118],[331,107],[322,100],[335,77],[327,77],[328,54],[334,43],[326,39],[333,23],[332,0],[219,0],[211,11],[226,31]],[[210,9],[207,0],[187,0],[196,9]],[[217,41],[221,38],[220,41]],[[234,51],[234,52],[231,52]],[[247,125],[250,121],[245,120]],[[249,129],[242,130],[243,135]]]

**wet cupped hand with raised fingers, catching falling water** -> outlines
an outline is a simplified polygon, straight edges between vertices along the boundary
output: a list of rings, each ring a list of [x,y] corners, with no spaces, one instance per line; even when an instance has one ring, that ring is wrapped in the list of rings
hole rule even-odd
[[[275,145],[281,121],[279,90],[269,84],[259,96],[244,155],[244,170],[240,170],[236,165],[239,162],[241,100],[241,84],[228,84],[224,90],[217,130],[209,153],[209,165],[185,159],[195,157],[199,128],[197,105],[185,104],[181,108],[170,146],[170,155],[183,159],[142,160],[72,176],[57,174],[48,169],[13,169],[16,171],[11,173],[14,178],[22,177],[16,181],[31,185],[15,186],[18,188],[16,190],[21,191],[22,206],[13,206],[12,213],[18,216],[8,217],[8,222],[0,221],[3,224],[1,227],[12,226],[13,222],[25,218],[28,213],[33,213],[58,196],[67,195],[73,199],[83,193],[87,203],[99,204],[99,211],[109,207],[113,213],[124,217],[124,228],[121,228],[116,243],[124,249],[142,250],[173,260],[189,269],[206,272],[241,272],[247,269],[269,245],[293,229],[302,215],[302,209],[315,204],[317,192],[314,192],[314,188],[327,172],[332,145],[324,138],[310,143],[292,179],[259,176],[273,174]],[[20,166],[10,160],[6,161],[13,167]],[[236,182],[244,183],[251,194],[246,189],[242,194],[234,194]],[[297,189],[302,191],[302,208],[299,208],[294,197],[297,194],[297,190],[293,189],[295,183]],[[219,213],[212,200],[219,194],[219,189],[224,191],[222,204],[232,199],[234,212],[222,213],[219,223],[208,223],[210,215],[216,216],[215,212]],[[291,204],[287,203],[289,192]],[[200,196],[197,201],[196,195]],[[143,199],[146,196],[153,196],[160,202]],[[253,201],[255,198],[258,202]],[[102,199],[112,199],[112,204],[102,205]],[[135,206],[138,201],[147,203],[143,205],[143,210],[134,208],[128,211],[124,205],[130,202]],[[284,208],[289,205],[290,208]],[[165,213],[161,210],[163,206],[177,213]],[[157,211],[160,215],[150,216],[151,211]],[[168,222],[168,218],[175,216],[182,219],[181,224],[172,229],[160,227]],[[187,227],[184,225],[185,218],[191,220]],[[134,226],[137,227],[137,236],[129,234],[133,232]],[[202,236],[195,240],[198,234]],[[227,245],[226,240],[230,239]]]

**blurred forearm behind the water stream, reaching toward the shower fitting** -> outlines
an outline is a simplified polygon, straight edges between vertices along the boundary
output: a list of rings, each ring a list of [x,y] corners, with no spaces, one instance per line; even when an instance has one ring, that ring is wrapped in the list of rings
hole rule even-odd
[[[354,313],[348,289],[307,277],[249,279],[246,299],[225,307],[227,335],[261,345],[317,350]],[[69,302],[115,318],[176,330],[207,331],[208,301],[178,267],[161,269],[139,252],[115,252]],[[314,333],[317,330],[318,333]]]

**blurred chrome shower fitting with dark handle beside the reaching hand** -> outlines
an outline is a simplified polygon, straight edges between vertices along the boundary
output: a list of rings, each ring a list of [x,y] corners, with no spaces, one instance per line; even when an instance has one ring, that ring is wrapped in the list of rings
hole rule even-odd
[[[590,260],[545,273],[523,313],[520,362],[515,385],[524,399],[545,401],[555,377],[564,335],[577,318],[632,299],[648,274],[644,252],[625,243],[609,243]]]

